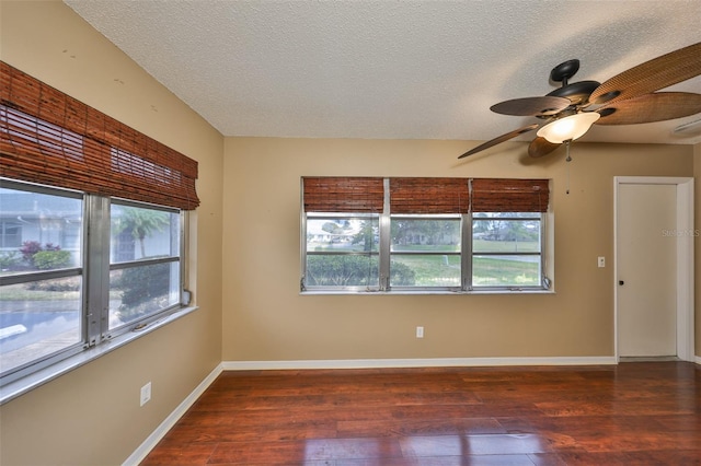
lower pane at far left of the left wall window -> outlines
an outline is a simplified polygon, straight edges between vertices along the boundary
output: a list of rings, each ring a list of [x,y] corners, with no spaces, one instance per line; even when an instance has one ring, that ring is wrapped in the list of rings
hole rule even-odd
[[[12,371],[82,341],[81,277],[0,287],[0,366]]]

